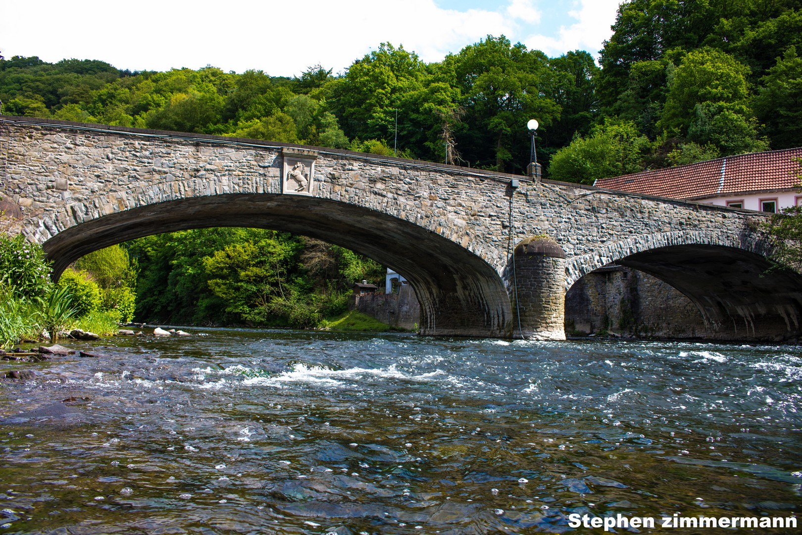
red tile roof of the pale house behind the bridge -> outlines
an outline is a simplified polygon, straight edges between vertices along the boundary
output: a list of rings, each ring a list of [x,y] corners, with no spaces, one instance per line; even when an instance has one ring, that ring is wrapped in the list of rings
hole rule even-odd
[[[674,199],[715,197],[800,184],[802,148],[752,152],[656,171],[600,178],[597,188],[618,189]]]

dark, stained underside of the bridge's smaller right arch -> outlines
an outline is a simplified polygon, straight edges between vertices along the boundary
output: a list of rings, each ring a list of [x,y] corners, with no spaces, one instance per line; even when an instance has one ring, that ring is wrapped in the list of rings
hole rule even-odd
[[[690,298],[708,338],[779,342],[802,335],[802,276],[768,271],[772,265],[759,254],[722,245],[671,245],[615,263],[659,278]]]

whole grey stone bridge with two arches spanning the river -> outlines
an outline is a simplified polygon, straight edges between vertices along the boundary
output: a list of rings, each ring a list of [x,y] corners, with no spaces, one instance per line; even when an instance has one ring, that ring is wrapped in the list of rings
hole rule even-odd
[[[668,282],[719,339],[800,337],[802,277],[772,272],[764,216],[329,148],[0,118],[0,208],[60,274],[95,249],[247,226],[403,274],[422,334],[565,337],[565,292],[615,262]]]

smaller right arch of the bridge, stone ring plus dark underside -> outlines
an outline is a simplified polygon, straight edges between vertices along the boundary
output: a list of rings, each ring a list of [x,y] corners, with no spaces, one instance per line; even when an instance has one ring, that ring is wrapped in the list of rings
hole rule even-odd
[[[617,264],[667,282],[691,299],[710,338],[798,339],[802,276],[772,270],[768,243],[736,229],[655,233],[607,244],[566,265],[566,291],[583,275]]]

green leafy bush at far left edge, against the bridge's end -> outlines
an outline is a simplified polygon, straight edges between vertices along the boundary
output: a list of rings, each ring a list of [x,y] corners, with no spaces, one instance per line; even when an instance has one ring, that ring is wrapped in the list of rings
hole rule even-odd
[[[45,294],[51,270],[44,256],[42,247],[22,234],[0,236],[0,284],[26,298]]]

